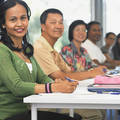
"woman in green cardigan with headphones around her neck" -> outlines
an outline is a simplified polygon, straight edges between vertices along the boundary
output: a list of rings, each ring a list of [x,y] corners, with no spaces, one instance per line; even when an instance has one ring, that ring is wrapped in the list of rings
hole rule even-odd
[[[31,120],[23,97],[45,92],[71,93],[77,82],[45,75],[27,42],[30,9],[22,0],[0,0],[0,120]],[[75,120],[69,116],[39,111],[38,120]]]

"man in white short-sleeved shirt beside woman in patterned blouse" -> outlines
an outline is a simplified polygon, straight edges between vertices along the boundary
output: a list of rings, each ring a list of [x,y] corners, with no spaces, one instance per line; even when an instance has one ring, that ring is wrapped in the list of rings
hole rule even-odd
[[[107,60],[106,56],[102,53],[101,49],[97,46],[97,42],[101,39],[102,27],[97,21],[91,21],[88,23],[88,39],[81,44],[84,47],[90,58],[98,65],[105,65],[108,68],[114,68],[115,66]]]

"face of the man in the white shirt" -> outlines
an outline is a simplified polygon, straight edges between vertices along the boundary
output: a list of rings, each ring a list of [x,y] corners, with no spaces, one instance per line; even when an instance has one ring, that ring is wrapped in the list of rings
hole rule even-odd
[[[98,24],[91,25],[91,28],[88,32],[88,39],[96,44],[96,42],[101,39],[101,35],[101,27]]]

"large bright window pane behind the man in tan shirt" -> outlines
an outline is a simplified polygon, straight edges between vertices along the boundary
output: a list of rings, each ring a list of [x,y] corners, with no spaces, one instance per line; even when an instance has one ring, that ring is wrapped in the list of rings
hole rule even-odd
[[[29,24],[30,38],[32,42],[40,36],[39,17],[48,8],[57,8],[64,15],[64,34],[57,41],[55,48],[59,51],[68,41],[68,26],[77,19],[82,19],[86,23],[91,20],[90,0],[26,0],[31,8],[32,16]]]

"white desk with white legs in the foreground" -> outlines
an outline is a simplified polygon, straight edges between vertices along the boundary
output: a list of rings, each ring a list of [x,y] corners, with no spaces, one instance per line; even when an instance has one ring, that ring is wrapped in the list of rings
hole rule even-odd
[[[24,98],[31,104],[32,120],[37,120],[37,108],[69,109],[120,109],[120,95],[93,94],[86,90],[92,80],[81,81],[79,90],[73,94],[42,94]]]

